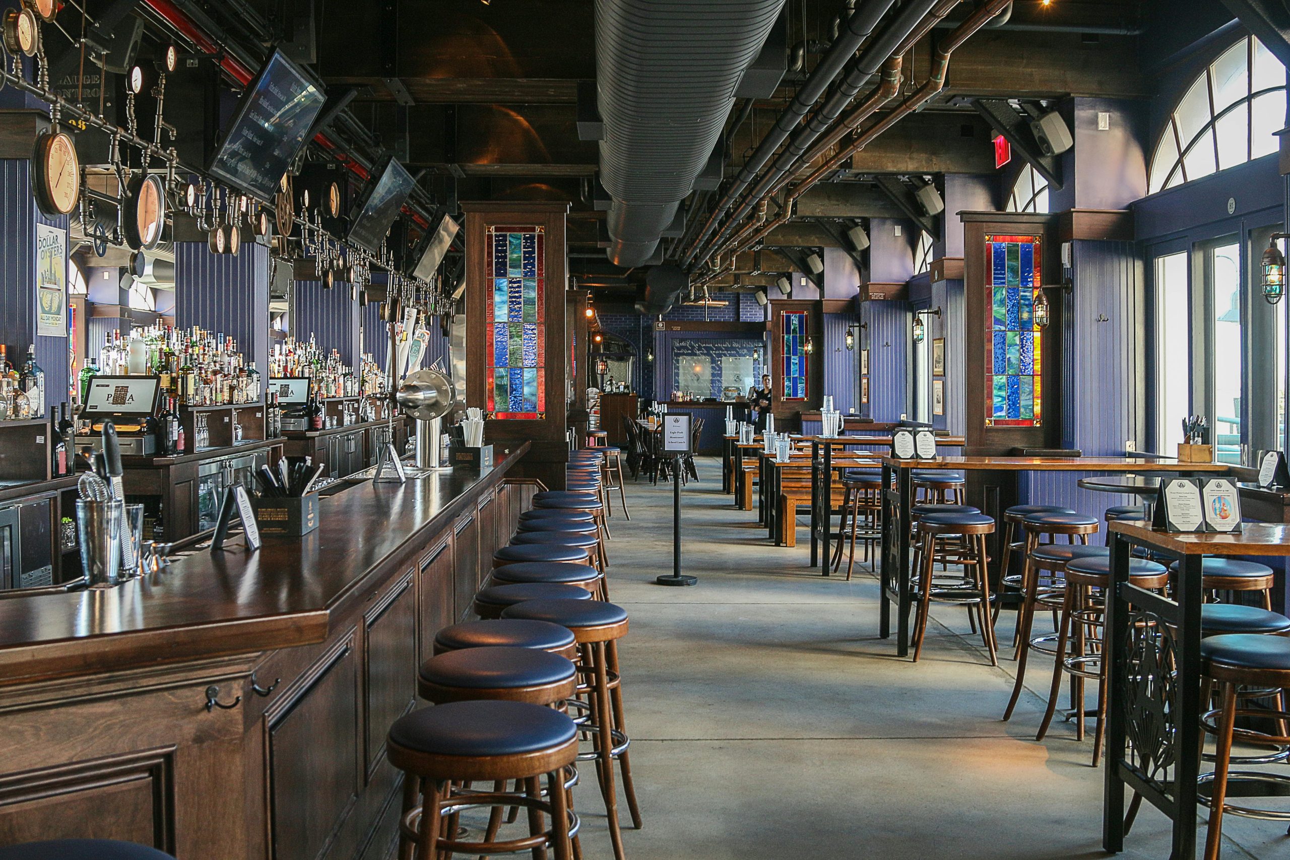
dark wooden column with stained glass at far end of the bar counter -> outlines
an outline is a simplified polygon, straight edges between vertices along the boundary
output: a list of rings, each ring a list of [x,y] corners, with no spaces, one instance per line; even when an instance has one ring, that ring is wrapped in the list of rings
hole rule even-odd
[[[531,441],[520,464],[524,477],[539,478],[548,487],[564,487],[569,462],[566,356],[573,349],[565,307],[569,205],[477,201],[463,202],[462,211],[466,213],[466,404],[484,410],[488,442],[513,446]],[[530,241],[533,250],[525,254]],[[507,280],[499,286],[498,277]],[[535,291],[535,304],[524,303],[525,289]],[[494,322],[498,312],[506,315],[504,321]],[[511,326],[510,331],[502,330],[501,346],[497,325]],[[512,343],[521,355],[512,357]]]

